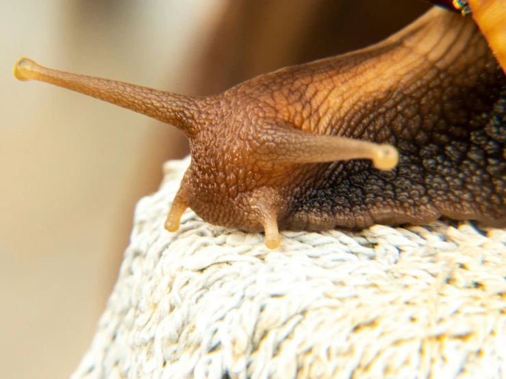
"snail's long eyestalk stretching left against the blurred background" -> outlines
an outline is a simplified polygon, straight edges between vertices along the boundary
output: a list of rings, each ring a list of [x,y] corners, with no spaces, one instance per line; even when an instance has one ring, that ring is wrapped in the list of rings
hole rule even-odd
[[[52,70],[21,58],[14,66],[14,76],[67,88],[145,114],[177,127],[189,137],[197,131],[194,122],[200,113],[196,99],[134,84]]]

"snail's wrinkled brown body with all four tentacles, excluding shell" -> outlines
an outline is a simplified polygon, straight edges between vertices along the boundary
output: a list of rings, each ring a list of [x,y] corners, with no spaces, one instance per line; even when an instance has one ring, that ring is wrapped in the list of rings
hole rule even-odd
[[[37,80],[181,130],[191,163],[167,216],[265,232],[425,224],[506,226],[506,77],[471,18],[434,7],[366,49],[189,97],[65,73]]]

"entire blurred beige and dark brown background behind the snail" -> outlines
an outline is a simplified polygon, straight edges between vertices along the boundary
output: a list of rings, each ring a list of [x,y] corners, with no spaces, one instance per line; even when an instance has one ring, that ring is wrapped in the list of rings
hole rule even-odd
[[[136,200],[156,189],[164,160],[187,151],[160,122],[16,81],[19,57],[212,94],[364,47],[425,9],[417,0],[0,1],[1,378],[71,374],[116,278]]]

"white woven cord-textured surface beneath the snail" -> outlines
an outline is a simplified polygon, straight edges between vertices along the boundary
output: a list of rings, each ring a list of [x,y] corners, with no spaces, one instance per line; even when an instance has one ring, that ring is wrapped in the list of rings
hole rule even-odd
[[[138,202],[72,378],[506,378],[504,230],[283,232],[268,250],[186,211],[171,234],[188,164]]]

